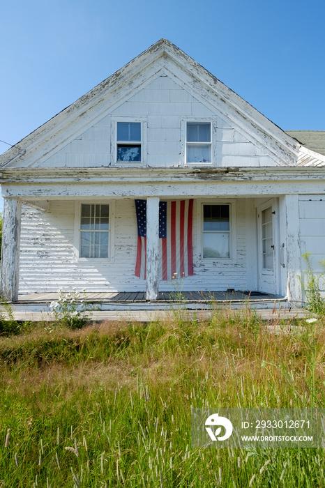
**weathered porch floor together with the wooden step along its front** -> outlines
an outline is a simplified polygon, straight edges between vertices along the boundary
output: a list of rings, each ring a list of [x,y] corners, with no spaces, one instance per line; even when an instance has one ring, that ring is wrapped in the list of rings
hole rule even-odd
[[[181,298],[181,296],[183,298]],[[287,298],[258,291],[165,291],[159,293],[159,300],[148,302],[144,292],[85,293],[84,300],[98,303],[99,310],[89,312],[92,321],[149,321],[168,317],[171,310],[187,309],[189,317],[195,313],[197,319],[210,317],[216,307],[229,307],[239,313],[246,304],[266,321],[289,317],[311,317],[307,310],[290,306]],[[59,293],[30,293],[19,297],[11,305],[13,317],[21,321],[53,321],[50,302],[57,300]],[[2,310],[1,310],[2,309]],[[6,316],[6,310],[0,312]],[[235,312],[234,310],[234,313]]]

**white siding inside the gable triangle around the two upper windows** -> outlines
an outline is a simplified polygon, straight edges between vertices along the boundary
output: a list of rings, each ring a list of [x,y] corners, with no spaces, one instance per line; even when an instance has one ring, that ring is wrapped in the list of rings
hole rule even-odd
[[[115,120],[116,117],[123,119],[123,116],[139,116],[146,121],[146,162],[149,166],[183,165],[181,124],[184,118],[190,120],[191,117],[216,120],[214,143],[217,165],[245,167],[278,164],[234,128],[234,123],[218,114],[216,109],[199,102],[169,77],[159,76],[112,111],[108,108],[103,119],[77,135],[40,167],[109,166],[111,155],[114,154],[111,146],[115,144],[111,138],[112,117]]]

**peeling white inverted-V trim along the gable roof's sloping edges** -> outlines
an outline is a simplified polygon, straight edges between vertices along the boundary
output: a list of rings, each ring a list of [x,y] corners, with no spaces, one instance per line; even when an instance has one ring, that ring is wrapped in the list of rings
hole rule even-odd
[[[188,88],[250,136],[255,144],[266,148],[282,165],[295,165],[299,144],[269,121],[243,98],[220,82],[181,49],[160,39],[126,66],[98,84],[72,105],[0,156],[0,167],[29,167],[40,158],[48,158],[84,130],[86,120],[96,122],[104,108],[121,102],[121,98],[139,89],[159,70],[181,75]],[[70,139],[69,139],[70,137]]]

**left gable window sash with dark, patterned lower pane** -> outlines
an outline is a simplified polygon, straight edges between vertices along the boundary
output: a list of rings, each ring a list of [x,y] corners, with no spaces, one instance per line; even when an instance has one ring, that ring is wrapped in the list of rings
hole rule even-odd
[[[117,162],[142,162],[141,122],[117,122]]]

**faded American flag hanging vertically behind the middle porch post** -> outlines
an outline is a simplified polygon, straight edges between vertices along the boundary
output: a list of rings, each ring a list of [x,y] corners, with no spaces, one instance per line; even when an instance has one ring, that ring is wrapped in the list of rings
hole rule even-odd
[[[146,200],[135,200],[135,276],[146,280]],[[193,275],[193,199],[159,202],[160,280]]]

